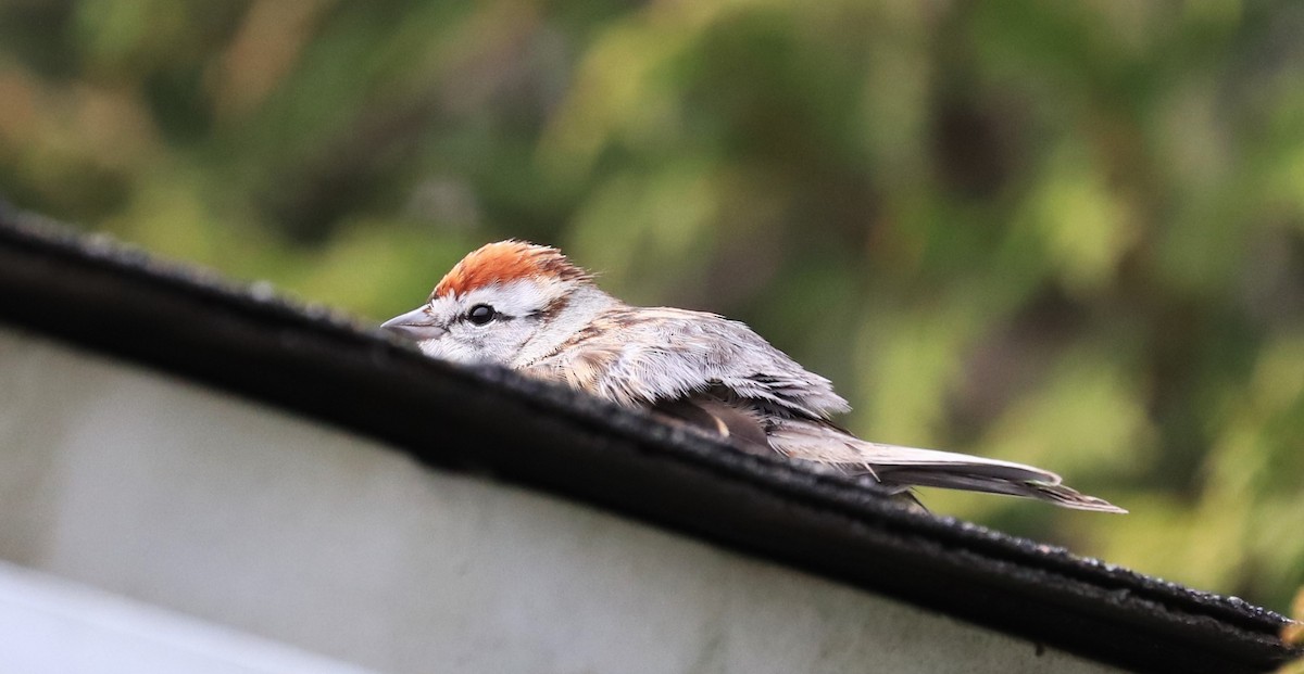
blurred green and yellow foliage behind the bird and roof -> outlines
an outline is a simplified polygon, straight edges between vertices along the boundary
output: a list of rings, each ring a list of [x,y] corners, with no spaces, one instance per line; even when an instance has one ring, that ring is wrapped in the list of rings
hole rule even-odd
[[[1304,5],[0,0],[0,198],[379,320],[561,246],[742,319],[874,440],[1132,510],[925,501],[1284,609]]]

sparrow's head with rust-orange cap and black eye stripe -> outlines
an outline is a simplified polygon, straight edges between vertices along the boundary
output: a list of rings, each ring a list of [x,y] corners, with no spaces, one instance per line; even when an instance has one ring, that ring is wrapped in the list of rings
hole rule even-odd
[[[557,249],[501,241],[469,252],[425,304],[382,329],[434,358],[520,367],[546,355],[610,302]]]

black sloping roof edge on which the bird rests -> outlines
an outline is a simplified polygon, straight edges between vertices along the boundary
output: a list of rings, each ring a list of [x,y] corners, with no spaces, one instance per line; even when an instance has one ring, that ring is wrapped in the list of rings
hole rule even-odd
[[[1239,599],[909,513],[852,480],[502,370],[452,368],[262,286],[3,209],[0,321],[293,410],[432,466],[589,502],[1094,660],[1231,673],[1267,671],[1292,654],[1277,639],[1287,621]],[[447,429],[442,442],[432,427]],[[531,452],[512,452],[522,442]]]

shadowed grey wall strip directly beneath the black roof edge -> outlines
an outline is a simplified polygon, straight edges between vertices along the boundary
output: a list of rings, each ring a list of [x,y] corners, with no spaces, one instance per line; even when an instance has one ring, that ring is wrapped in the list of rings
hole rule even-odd
[[[1108,671],[3,327],[0,513],[0,558],[382,671]]]

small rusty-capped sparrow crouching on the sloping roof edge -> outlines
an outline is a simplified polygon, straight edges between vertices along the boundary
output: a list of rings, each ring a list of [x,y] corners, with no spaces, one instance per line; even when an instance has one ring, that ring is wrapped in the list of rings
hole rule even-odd
[[[428,357],[494,363],[685,424],[751,453],[832,465],[897,493],[939,487],[1125,513],[1021,463],[861,440],[832,383],[745,323],[630,306],[558,249],[519,239],[466,255],[426,302],[381,325]]]

